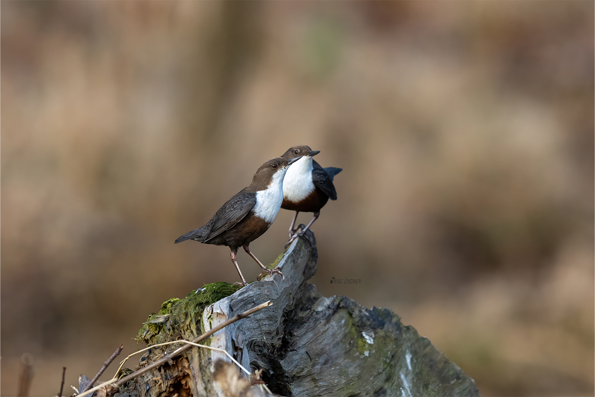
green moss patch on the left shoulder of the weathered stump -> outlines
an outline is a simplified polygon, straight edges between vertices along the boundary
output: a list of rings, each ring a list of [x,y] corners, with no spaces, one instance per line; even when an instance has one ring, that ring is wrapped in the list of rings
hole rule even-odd
[[[134,340],[154,345],[165,342],[174,335],[194,339],[202,333],[201,318],[205,307],[240,288],[230,283],[217,282],[193,290],[184,299],[169,299],[161,304],[161,310],[157,314],[149,315]]]

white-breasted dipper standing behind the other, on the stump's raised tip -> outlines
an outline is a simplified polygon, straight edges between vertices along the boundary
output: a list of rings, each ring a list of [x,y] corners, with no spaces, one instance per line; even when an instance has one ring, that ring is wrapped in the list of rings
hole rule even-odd
[[[322,168],[318,162],[312,159],[312,156],[318,153],[320,151],[313,151],[309,146],[301,145],[287,149],[281,156],[288,160],[299,159],[289,167],[283,180],[283,203],[281,203],[281,208],[296,211],[289,226],[288,244],[295,240],[296,237],[303,235],[312,226],[312,223],[320,216],[320,209],[327,204],[328,199],[337,199],[333,178],[343,168]],[[297,230],[293,227],[299,212],[314,212],[314,217],[301,232],[296,233]]]

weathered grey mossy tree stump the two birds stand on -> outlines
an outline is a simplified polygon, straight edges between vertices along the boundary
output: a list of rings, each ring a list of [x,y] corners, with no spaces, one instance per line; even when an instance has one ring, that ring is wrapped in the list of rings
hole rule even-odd
[[[225,349],[281,396],[478,396],[461,368],[404,326],[384,308],[362,307],[345,296],[325,298],[306,281],[316,271],[317,249],[310,231],[275,261],[284,273],[239,289],[207,285],[184,299],[164,302],[139,331],[148,346],[192,340],[217,324],[265,301],[273,302],[215,333],[205,343]],[[167,348],[166,348],[167,347]],[[151,349],[139,366],[176,347]],[[271,396],[250,385],[223,353],[193,347],[161,367],[107,395]]]

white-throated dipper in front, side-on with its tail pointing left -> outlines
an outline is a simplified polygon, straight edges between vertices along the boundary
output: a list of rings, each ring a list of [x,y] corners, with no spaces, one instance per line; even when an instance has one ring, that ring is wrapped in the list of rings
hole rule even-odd
[[[283,277],[278,268],[268,270],[264,267],[250,252],[248,245],[273,224],[283,202],[283,177],[289,165],[297,160],[299,158],[275,157],[262,164],[252,177],[250,185],[223,204],[205,226],[178,237],[175,243],[195,240],[205,244],[227,245],[231,249],[231,261],[244,286],[248,283],[236,261],[237,249],[240,247],[262,268],[257,280],[260,281],[265,274],[271,273],[278,273]]]

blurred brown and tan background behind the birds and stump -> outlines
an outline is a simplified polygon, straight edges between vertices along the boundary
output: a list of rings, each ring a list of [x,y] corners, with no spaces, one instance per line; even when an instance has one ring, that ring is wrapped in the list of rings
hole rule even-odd
[[[484,396],[593,395],[593,15],[2,1],[2,395],[24,353],[31,395],[62,367],[70,395],[161,302],[236,282],[227,248],[174,239],[302,144],[343,168],[312,227],[322,295],[389,307]],[[250,245],[261,261],[292,216]]]

